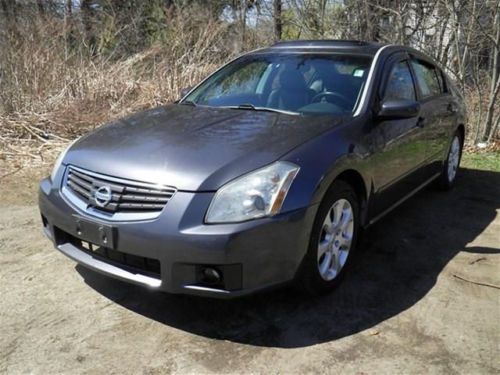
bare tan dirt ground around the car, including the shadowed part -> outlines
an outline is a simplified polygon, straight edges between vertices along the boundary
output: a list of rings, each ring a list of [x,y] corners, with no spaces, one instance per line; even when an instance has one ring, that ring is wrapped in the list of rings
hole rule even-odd
[[[500,173],[462,170],[369,229],[342,286],[219,301],[88,271],[41,233],[36,182],[0,181],[0,372],[500,373]]]

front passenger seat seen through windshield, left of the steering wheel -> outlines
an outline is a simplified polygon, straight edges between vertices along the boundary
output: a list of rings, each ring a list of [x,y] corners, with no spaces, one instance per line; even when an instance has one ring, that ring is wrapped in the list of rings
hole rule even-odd
[[[288,67],[283,69],[278,82],[279,88],[269,95],[268,107],[295,111],[309,104],[312,90],[307,87],[304,76],[298,70]]]

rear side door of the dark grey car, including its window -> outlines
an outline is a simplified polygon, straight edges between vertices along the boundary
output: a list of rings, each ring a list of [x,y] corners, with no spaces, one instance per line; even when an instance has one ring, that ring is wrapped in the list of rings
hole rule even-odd
[[[424,177],[430,178],[441,171],[457,104],[448,92],[443,73],[438,67],[417,56],[411,57],[411,66],[417,82],[420,113],[424,121],[426,159]]]

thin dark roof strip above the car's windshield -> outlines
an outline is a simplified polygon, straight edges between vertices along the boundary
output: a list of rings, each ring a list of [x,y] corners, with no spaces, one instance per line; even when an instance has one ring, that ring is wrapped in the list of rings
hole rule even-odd
[[[360,40],[287,40],[273,44],[256,52],[330,52],[346,54],[375,55],[377,51],[385,46],[383,43],[364,42]]]

